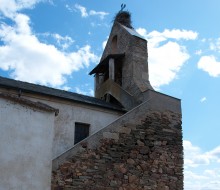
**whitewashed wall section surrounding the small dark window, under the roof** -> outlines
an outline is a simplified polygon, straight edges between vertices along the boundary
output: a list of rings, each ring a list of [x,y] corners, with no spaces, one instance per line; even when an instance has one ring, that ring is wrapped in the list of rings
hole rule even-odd
[[[55,101],[44,101],[59,109],[59,115],[55,118],[53,158],[74,146],[75,122],[90,124],[89,134],[91,135],[122,115],[121,112],[104,108]]]

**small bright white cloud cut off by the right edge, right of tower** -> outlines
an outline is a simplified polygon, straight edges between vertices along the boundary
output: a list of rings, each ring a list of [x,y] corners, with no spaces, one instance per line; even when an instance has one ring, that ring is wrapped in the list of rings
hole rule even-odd
[[[213,55],[202,56],[197,66],[212,77],[220,76],[220,62]]]

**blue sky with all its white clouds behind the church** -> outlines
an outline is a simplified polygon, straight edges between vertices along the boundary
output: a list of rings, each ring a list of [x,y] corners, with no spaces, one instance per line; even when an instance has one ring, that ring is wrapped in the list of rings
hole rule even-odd
[[[219,0],[0,0],[0,75],[93,95],[121,3],[148,40],[151,84],[182,100],[185,189],[220,189]]]

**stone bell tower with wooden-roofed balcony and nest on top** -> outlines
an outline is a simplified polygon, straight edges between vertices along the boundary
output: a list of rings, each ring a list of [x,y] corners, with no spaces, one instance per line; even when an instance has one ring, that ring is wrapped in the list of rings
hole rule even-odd
[[[131,25],[131,16],[120,11],[112,26],[95,75],[95,97],[130,110],[146,101],[149,82],[147,41]]]

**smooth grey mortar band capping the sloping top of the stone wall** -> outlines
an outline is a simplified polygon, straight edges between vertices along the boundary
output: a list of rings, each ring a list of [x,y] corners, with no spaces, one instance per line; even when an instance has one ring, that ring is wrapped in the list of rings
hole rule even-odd
[[[181,102],[179,99],[150,90],[148,90],[148,93],[145,95],[148,99],[147,101],[119,117],[108,126],[99,130],[97,133],[92,134],[83,140],[83,143],[87,143],[88,148],[90,149],[99,147],[100,140],[103,138],[104,132],[118,133],[120,132],[121,127],[126,125],[129,125],[131,128],[132,126],[135,127],[143,118],[145,118],[146,113],[149,110],[159,110],[161,112],[169,110],[171,112],[181,114]],[[82,146],[82,143],[78,143],[73,148],[53,159],[53,170],[56,170],[68,158],[71,158],[72,155],[77,154],[77,152],[80,152],[83,149],[84,147]]]

